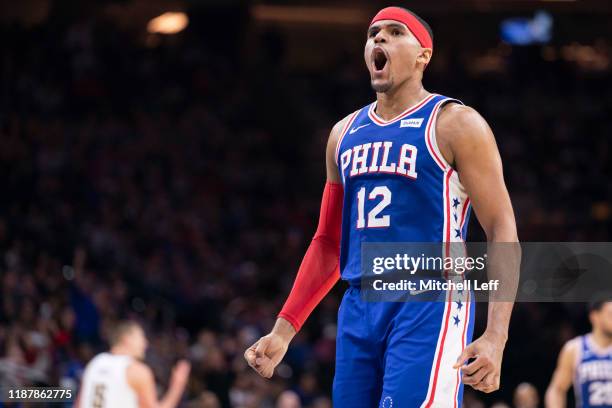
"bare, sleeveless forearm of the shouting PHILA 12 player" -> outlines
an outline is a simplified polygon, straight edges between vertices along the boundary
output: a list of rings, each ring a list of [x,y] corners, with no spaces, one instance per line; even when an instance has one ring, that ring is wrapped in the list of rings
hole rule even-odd
[[[508,338],[510,317],[516,298],[521,264],[521,248],[514,222],[500,223],[487,234],[487,274],[499,286],[489,293],[486,332]]]

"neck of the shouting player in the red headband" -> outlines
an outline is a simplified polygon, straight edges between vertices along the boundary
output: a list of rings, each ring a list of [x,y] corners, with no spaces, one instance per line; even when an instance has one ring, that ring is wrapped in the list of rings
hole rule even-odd
[[[384,120],[390,120],[416,105],[429,92],[423,88],[421,81],[406,81],[395,89],[376,93],[376,114]]]

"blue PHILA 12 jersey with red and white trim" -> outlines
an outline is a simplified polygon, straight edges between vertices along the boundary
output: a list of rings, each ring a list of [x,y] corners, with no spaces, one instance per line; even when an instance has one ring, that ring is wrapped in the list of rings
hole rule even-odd
[[[338,140],[344,185],[340,271],[361,278],[363,242],[461,242],[470,200],[436,142],[442,105],[461,103],[432,94],[385,121],[376,102],[354,112]]]

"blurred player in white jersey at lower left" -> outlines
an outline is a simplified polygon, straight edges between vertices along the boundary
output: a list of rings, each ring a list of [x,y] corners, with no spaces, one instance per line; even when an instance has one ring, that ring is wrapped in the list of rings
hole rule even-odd
[[[170,386],[157,400],[153,371],[141,360],[147,349],[144,330],[136,322],[122,322],[113,330],[111,350],[94,357],[83,374],[76,406],[79,408],[173,408],[180,399],[191,369],[180,361]]]

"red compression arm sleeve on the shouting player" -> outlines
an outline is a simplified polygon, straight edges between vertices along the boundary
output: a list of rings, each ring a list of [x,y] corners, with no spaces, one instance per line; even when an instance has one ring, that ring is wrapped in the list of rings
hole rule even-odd
[[[340,279],[342,184],[325,183],[319,226],[302,260],[291,293],[278,317],[299,331],[319,302]]]

